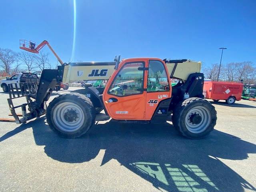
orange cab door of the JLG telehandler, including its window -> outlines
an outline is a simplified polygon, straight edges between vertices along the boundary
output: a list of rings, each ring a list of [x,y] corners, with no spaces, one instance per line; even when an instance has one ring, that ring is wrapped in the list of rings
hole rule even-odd
[[[147,60],[124,60],[107,84],[103,101],[116,120],[144,120]]]

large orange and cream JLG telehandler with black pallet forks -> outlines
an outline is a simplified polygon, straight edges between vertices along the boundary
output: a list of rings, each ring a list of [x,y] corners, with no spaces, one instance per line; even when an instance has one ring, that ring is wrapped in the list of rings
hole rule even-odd
[[[25,50],[38,52],[34,44]],[[20,84],[24,91],[19,94],[17,85],[9,85],[8,103],[16,123],[46,114],[50,128],[66,138],[85,134],[101,110],[124,123],[160,124],[172,114],[172,123],[182,135],[202,138],[213,130],[217,117],[214,106],[203,99],[200,68],[200,62],[186,59],[131,58],[120,62],[120,56],[114,62],[64,63],[56,70],[43,70],[38,87]],[[178,84],[172,87],[170,78],[179,79]],[[108,82],[103,94],[86,86],[57,96],[46,107],[56,84],[73,80]],[[21,96],[26,96],[27,103],[13,106],[12,99]],[[15,112],[17,107],[22,107],[22,118]]]

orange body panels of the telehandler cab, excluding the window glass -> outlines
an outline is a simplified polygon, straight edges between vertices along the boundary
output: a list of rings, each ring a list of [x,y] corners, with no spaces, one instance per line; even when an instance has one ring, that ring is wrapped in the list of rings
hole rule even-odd
[[[164,64],[164,62],[158,58],[133,58],[126,59],[120,62],[118,66],[118,70],[115,70],[110,79],[108,80],[108,84],[103,92],[103,102],[104,106],[108,112],[108,114],[116,120],[150,120],[158,106],[158,103],[161,100],[170,98],[172,90],[170,84],[170,78],[168,79],[168,85],[170,90],[163,92],[147,92],[143,91],[142,94],[128,95],[128,96],[116,96],[108,93],[108,90],[115,79],[116,75],[126,64],[127,62],[144,62],[145,67],[148,68],[149,60],[159,60]],[[166,65],[164,64],[164,68],[166,70],[167,77],[169,77],[169,73]],[[147,88],[147,80],[148,80],[148,70],[144,71],[144,89]],[[108,102],[110,98],[116,98],[117,102]],[[148,103],[150,100],[154,100],[156,103]],[[156,101],[157,100],[157,101]]]

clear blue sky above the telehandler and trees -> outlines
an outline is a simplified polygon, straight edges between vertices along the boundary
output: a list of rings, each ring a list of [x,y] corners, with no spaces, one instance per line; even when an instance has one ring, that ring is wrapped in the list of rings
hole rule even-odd
[[[72,58],[73,0],[2,0],[0,48],[19,39],[48,40],[64,62]],[[255,0],[76,0],[72,61],[158,57],[256,64]],[[47,47],[45,52],[50,52]],[[56,63],[51,55],[50,60]]]

